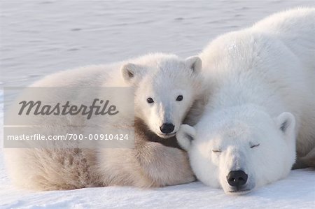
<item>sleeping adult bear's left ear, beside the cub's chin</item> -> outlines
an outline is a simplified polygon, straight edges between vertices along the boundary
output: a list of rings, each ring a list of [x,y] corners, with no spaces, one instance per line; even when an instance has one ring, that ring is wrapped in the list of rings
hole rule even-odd
[[[196,136],[196,130],[194,127],[190,127],[188,124],[182,124],[179,131],[176,133],[177,141],[181,147],[188,151],[190,145]]]

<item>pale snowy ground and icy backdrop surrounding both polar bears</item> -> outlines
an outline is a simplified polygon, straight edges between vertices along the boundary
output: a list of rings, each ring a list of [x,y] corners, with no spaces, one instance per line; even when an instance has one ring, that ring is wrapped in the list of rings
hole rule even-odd
[[[27,86],[55,71],[146,52],[195,55],[215,36],[314,1],[0,1],[0,85]],[[0,89],[0,136],[3,108]],[[162,189],[105,187],[30,192],[10,185],[0,137],[0,208],[314,208],[315,171],[246,196],[200,182]]]

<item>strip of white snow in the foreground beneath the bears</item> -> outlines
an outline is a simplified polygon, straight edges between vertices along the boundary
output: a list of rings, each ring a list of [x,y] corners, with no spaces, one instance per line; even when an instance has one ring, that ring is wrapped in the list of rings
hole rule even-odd
[[[29,192],[1,185],[0,208],[314,208],[314,169],[292,171],[285,180],[244,196],[227,196],[193,182],[159,189],[99,187]]]

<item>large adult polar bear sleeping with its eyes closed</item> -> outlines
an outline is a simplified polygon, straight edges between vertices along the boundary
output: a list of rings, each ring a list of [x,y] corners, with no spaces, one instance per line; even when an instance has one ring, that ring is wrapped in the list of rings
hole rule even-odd
[[[315,8],[219,36],[200,57],[209,103],[177,134],[197,178],[234,194],[284,178],[296,137],[297,166],[314,166]]]

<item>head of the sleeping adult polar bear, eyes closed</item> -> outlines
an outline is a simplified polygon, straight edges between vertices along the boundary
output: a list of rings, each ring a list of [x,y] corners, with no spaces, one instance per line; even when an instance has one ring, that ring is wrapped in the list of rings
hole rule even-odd
[[[244,194],[286,177],[295,161],[295,117],[222,111],[176,134],[197,178],[227,194]]]

